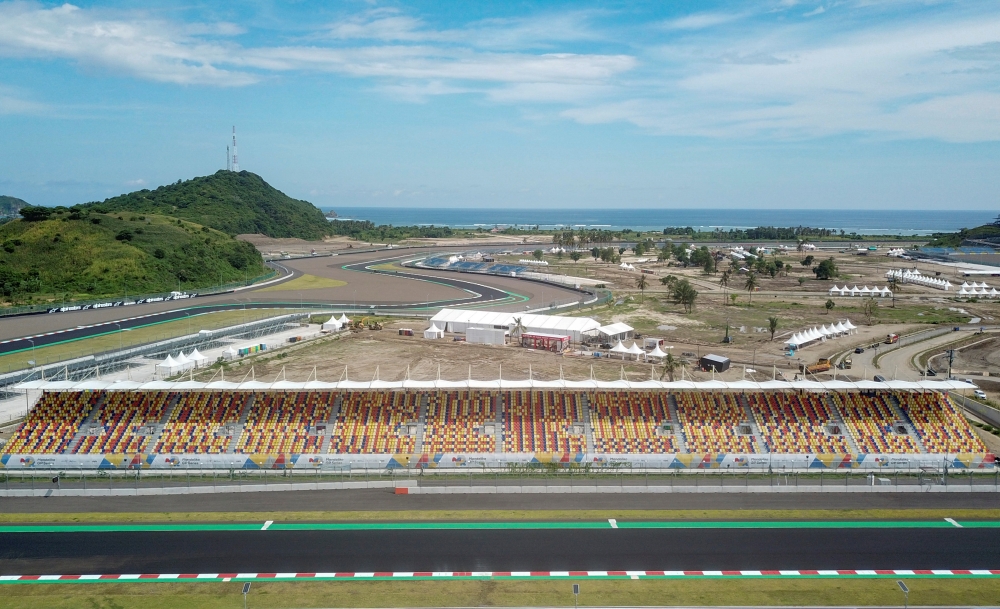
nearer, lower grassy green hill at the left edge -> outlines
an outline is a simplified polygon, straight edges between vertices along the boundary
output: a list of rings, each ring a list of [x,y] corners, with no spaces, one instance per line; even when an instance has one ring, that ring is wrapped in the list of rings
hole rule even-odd
[[[0,226],[0,299],[39,302],[168,292],[265,271],[244,241],[155,214],[28,207]]]

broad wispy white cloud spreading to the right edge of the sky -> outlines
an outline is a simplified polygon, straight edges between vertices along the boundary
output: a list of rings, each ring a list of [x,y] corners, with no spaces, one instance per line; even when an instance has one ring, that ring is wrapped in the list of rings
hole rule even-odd
[[[1000,15],[873,23],[832,37],[821,27],[761,27],[661,49],[669,68],[645,91],[563,114],[713,138],[1000,139]],[[734,53],[775,61],[731,61]]]

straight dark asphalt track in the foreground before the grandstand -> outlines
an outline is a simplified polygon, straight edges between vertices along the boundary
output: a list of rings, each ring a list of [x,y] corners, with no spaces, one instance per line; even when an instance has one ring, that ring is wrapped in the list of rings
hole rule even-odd
[[[0,573],[990,569],[1000,529],[0,533]]]

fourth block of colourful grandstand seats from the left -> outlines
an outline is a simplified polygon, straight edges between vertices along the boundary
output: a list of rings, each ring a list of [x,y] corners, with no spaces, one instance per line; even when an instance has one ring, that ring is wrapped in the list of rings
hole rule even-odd
[[[318,453],[335,395],[330,392],[258,393],[236,445],[238,453]],[[311,433],[310,433],[311,432]]]

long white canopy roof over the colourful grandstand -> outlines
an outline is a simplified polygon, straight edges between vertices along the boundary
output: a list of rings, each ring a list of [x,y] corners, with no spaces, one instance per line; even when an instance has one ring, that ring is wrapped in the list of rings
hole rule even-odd
[[[898,391],[950,391],[974,389],[975,385],[964,381],[886,381],[876,383],[875,381],[568,381],[568,380],[462,380],[462,381],[339,381],[324,383],[320,381],[309,381],[305,383],[292,381],[279,381],[278,383],[265,383],[262,381],[248,381],[245,383],[233,383],[229,381],[214,381],[205,383],[201,381],[152,381],[147,383],[130,382],[108,382],[108,381],[29,381],[15,386],[15,389],[31,389],[41,391],[345,391],[345,390],[370,390],[370,389],[649,389],[649,390],[766,390],[766,391],[787,391],[787,390],[864,390],[882,389]]]

